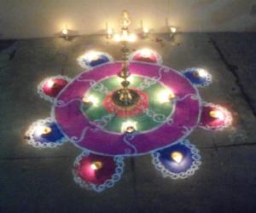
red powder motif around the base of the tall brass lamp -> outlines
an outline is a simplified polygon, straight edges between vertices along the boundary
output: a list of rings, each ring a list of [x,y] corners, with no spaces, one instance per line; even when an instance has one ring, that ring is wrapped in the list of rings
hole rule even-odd
[[[139,89],[132,90],[135,90],[140,96],[139,101],[137,101],[137,104],[134,106],[117,106],[112,100],[113,92],[109,93],[103,100],[103,106],[107,109],[108,112],[116,113],[118,117],[131,117],[143,113],[143,111],[148,108],[148,95]]]

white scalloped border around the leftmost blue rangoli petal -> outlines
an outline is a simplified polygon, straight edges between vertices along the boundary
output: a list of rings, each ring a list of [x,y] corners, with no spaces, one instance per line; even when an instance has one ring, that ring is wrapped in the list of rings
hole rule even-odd
[[[64,142],[68,141],[64,135],[60,140],[55,142],[49,141],[49,142],[42,143],[39,141],[35,141],[33,139],[33,134],[35,130],[38,128],[39,125],[44,125],[48,123],[55,123],[55,121],[53,118],[45,118],[45,119],[39,119],[36,122],[32,123],[32,125],[28,128],[28,130],[25,133],[26,137],[29,137],[29,138],[26,138],[26,141],[29,145],[32,145],[32,147],[37,147],[37,148],[55,148],[62,145]]]

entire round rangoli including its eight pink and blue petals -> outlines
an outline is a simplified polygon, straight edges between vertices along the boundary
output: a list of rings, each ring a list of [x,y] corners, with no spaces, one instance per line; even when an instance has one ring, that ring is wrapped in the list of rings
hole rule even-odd
[[[87,70],[73,80],[61,75],[44,79],[38,94],[52,102],[51,117],[34,122],[25,134],[37,148],[71,141],[81,150],[73,180],[98,193],[121,179],[124,157],[151,153],[163,177],[194,175],[201,155],[189,134],[195,128],[217,131],[232,124],[227,109],[201,101],[197,88],[212,83],[206,70],[177,72],[162,66],[153,50],[137,50],[128,59],[125,68],[131,75],[126,80],[119,77],[124,63],[112,62],[103,52],[80,56],[79,64]],[[134,99],[122,102],[120,85],[127,81]]]

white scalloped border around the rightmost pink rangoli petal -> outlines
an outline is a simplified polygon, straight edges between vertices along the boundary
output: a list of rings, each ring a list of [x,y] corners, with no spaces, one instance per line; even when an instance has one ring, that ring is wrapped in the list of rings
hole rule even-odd
[[[207,102],[202,102],[202,107],[214,107],[217,108],[219,111],[224,112],[225,114],[225,122],[223,125],[217,127],[217,128],[212,128],[209,125],[202,125],[201,122],[198,124],[198,126],[204,130],[211,130],[211,131],[222,131],[228,127],[230,127],[232,125],[232,115],[231,112],[229,112],[226,108],[221,107],[217,104],[213,104],[211,102],[207,103]]]

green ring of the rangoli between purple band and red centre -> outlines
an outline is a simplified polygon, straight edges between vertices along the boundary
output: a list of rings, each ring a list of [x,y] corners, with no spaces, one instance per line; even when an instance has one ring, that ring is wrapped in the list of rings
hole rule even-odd
[[[156,82],[148,88],[143,89],[143,92],[148,95],[148,108],[136,116],[121,118],[111,114],[102,105],[106,97],[103,91],[109,93],[120,89],[119,77],[113,76],[104,78],[96,85],[92,86],[86,96],[96,99],[96,104],[88,107],[82,103],[81,110],[91,122],[102,124],[102,129],[110,133],[122,133],[122,124],[130,121],[136,123],[137,131],[143,133],[150,130],[158,129],[162,124],[165,124],[171,117],[175,108],[175,101],[162,102],[160,101],[160,93],[166,91],[167,87],[163,83]],[[142,83],[149,78],[132,75],[131,88],[139,88]],[[104,89],[102,89],[104,88]]]

